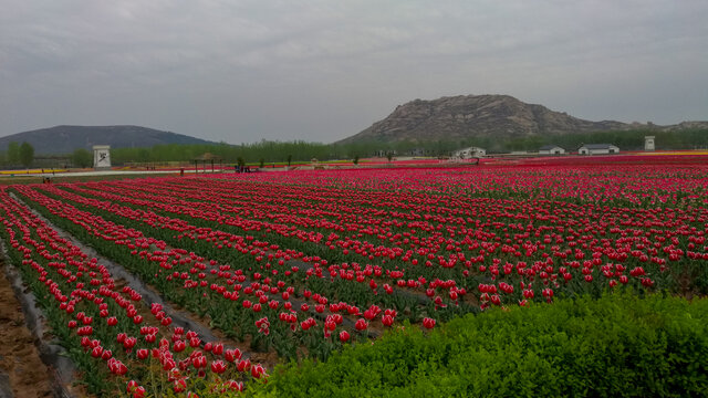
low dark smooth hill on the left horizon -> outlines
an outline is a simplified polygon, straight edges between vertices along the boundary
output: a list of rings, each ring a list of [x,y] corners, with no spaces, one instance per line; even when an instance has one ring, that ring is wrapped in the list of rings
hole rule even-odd
[[[215,144],[183,134],[139,126],[55,126],[23,132],[0,138],[0,150],[10,142],[27,142],[35,154],[70,154],[79,148],[91,150],[94,145],[112,148],[152,147],[166,144]]]

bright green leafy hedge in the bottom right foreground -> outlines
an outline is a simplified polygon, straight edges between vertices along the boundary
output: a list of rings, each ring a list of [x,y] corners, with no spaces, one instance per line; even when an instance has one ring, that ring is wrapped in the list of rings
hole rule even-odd
[[[708,300],[632,293],[468,315],[278,367],[254,397],[687,397],[708,391]]]

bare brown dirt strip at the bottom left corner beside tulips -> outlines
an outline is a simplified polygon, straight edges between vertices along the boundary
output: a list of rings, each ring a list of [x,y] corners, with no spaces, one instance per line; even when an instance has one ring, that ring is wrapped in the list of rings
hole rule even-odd
[[[51,397],[51,380],[0,256],[0,397]]]

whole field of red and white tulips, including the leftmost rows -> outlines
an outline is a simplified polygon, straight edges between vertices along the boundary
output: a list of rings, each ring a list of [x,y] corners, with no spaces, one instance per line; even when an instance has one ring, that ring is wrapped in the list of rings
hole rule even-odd
[[[15,185],[0,238],[88,392],[237,395],[493,307],[706,295],[708,157],[606,159]]]

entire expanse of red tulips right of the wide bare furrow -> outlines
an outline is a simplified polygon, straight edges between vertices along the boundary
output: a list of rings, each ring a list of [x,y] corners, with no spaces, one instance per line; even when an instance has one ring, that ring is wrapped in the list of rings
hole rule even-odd
[[[706,293],[705,171],[395,169],[14,190],[227,336],[326,358],[404,320],[433,328],[623,286]]]

